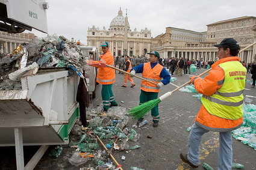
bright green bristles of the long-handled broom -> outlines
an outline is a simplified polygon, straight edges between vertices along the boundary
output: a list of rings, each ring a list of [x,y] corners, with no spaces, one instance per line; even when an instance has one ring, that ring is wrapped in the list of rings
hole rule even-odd
[[[131,108],[128,111],[128,114],[133,116],[134,119],[139,120],[144,115],[146,115],[146,113],[151,111],[151,109],[153,109],[155,106],[157,106],[158,103],[160,103],[160,102],[161,102],[161,100],[159,98],[150,100],[148,102],[142,103],[142,105],[136,106],[135,108]]]

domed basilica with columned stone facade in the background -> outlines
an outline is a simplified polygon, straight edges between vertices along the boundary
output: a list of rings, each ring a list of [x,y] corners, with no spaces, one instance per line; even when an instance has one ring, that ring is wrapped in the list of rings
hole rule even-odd
[[[126,30],[126,31],[125,31]],[[130,29],[127,15],[123,17],[120,9],[118,15],[110,23],[110,28],[103,29],[92,26],[87,31],[87,45],[96,46],[101,52],[102,41],[107,41],[114,56],[142,56],[151,47],[151,31],[148,28],[134,31]]]

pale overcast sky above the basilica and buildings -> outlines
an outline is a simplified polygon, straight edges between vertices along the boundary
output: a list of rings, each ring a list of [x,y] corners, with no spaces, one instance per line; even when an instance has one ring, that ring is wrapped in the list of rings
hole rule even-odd
[[[168,26],[207,31],[210,23],[242,16],[256,16],[256,0],[58,0],[49,1],[48,34],[63,35],[66,38],[80,39],[87,44],[87,30],[95,25],[99,29],[109,28],[110,22],[117,16],[119,8],[125,16],[128,10],[128,22],[131,30],[148,28],[152,37],[165,32]],[[45,37],[39,31],[33,31],[39,37]]]

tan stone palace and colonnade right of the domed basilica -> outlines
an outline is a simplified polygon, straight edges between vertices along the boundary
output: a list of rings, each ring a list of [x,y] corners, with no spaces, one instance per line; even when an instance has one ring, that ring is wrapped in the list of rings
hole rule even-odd
[[[236,39],[241,49],[256,41],[256,17],[245,16],[222,20],[207,25],[207,32],[195,32],[186,29],[167,27],[165,34],[151,40],[151,50],[157,50],[161,57],[183,57],[217,60],[217,48],[213,44],[220,43],[223,38]],[[256,45],[239,54],[242,61],[256,60]]]

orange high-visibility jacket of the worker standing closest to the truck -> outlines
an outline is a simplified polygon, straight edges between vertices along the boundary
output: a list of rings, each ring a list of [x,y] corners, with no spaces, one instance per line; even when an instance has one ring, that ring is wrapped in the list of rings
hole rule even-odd
[[[99,62],[106,62],[107,65],[114,67],[114,56],[108,49],[106,53],[101,55],[101,61],[88,61],[89,64],[96,64]],[[92,63],[91,63],[92,62]],[[102,85],[110,85],[116,81],[116,73],[113,68],[110,67],[99,67],[96,82]]]

